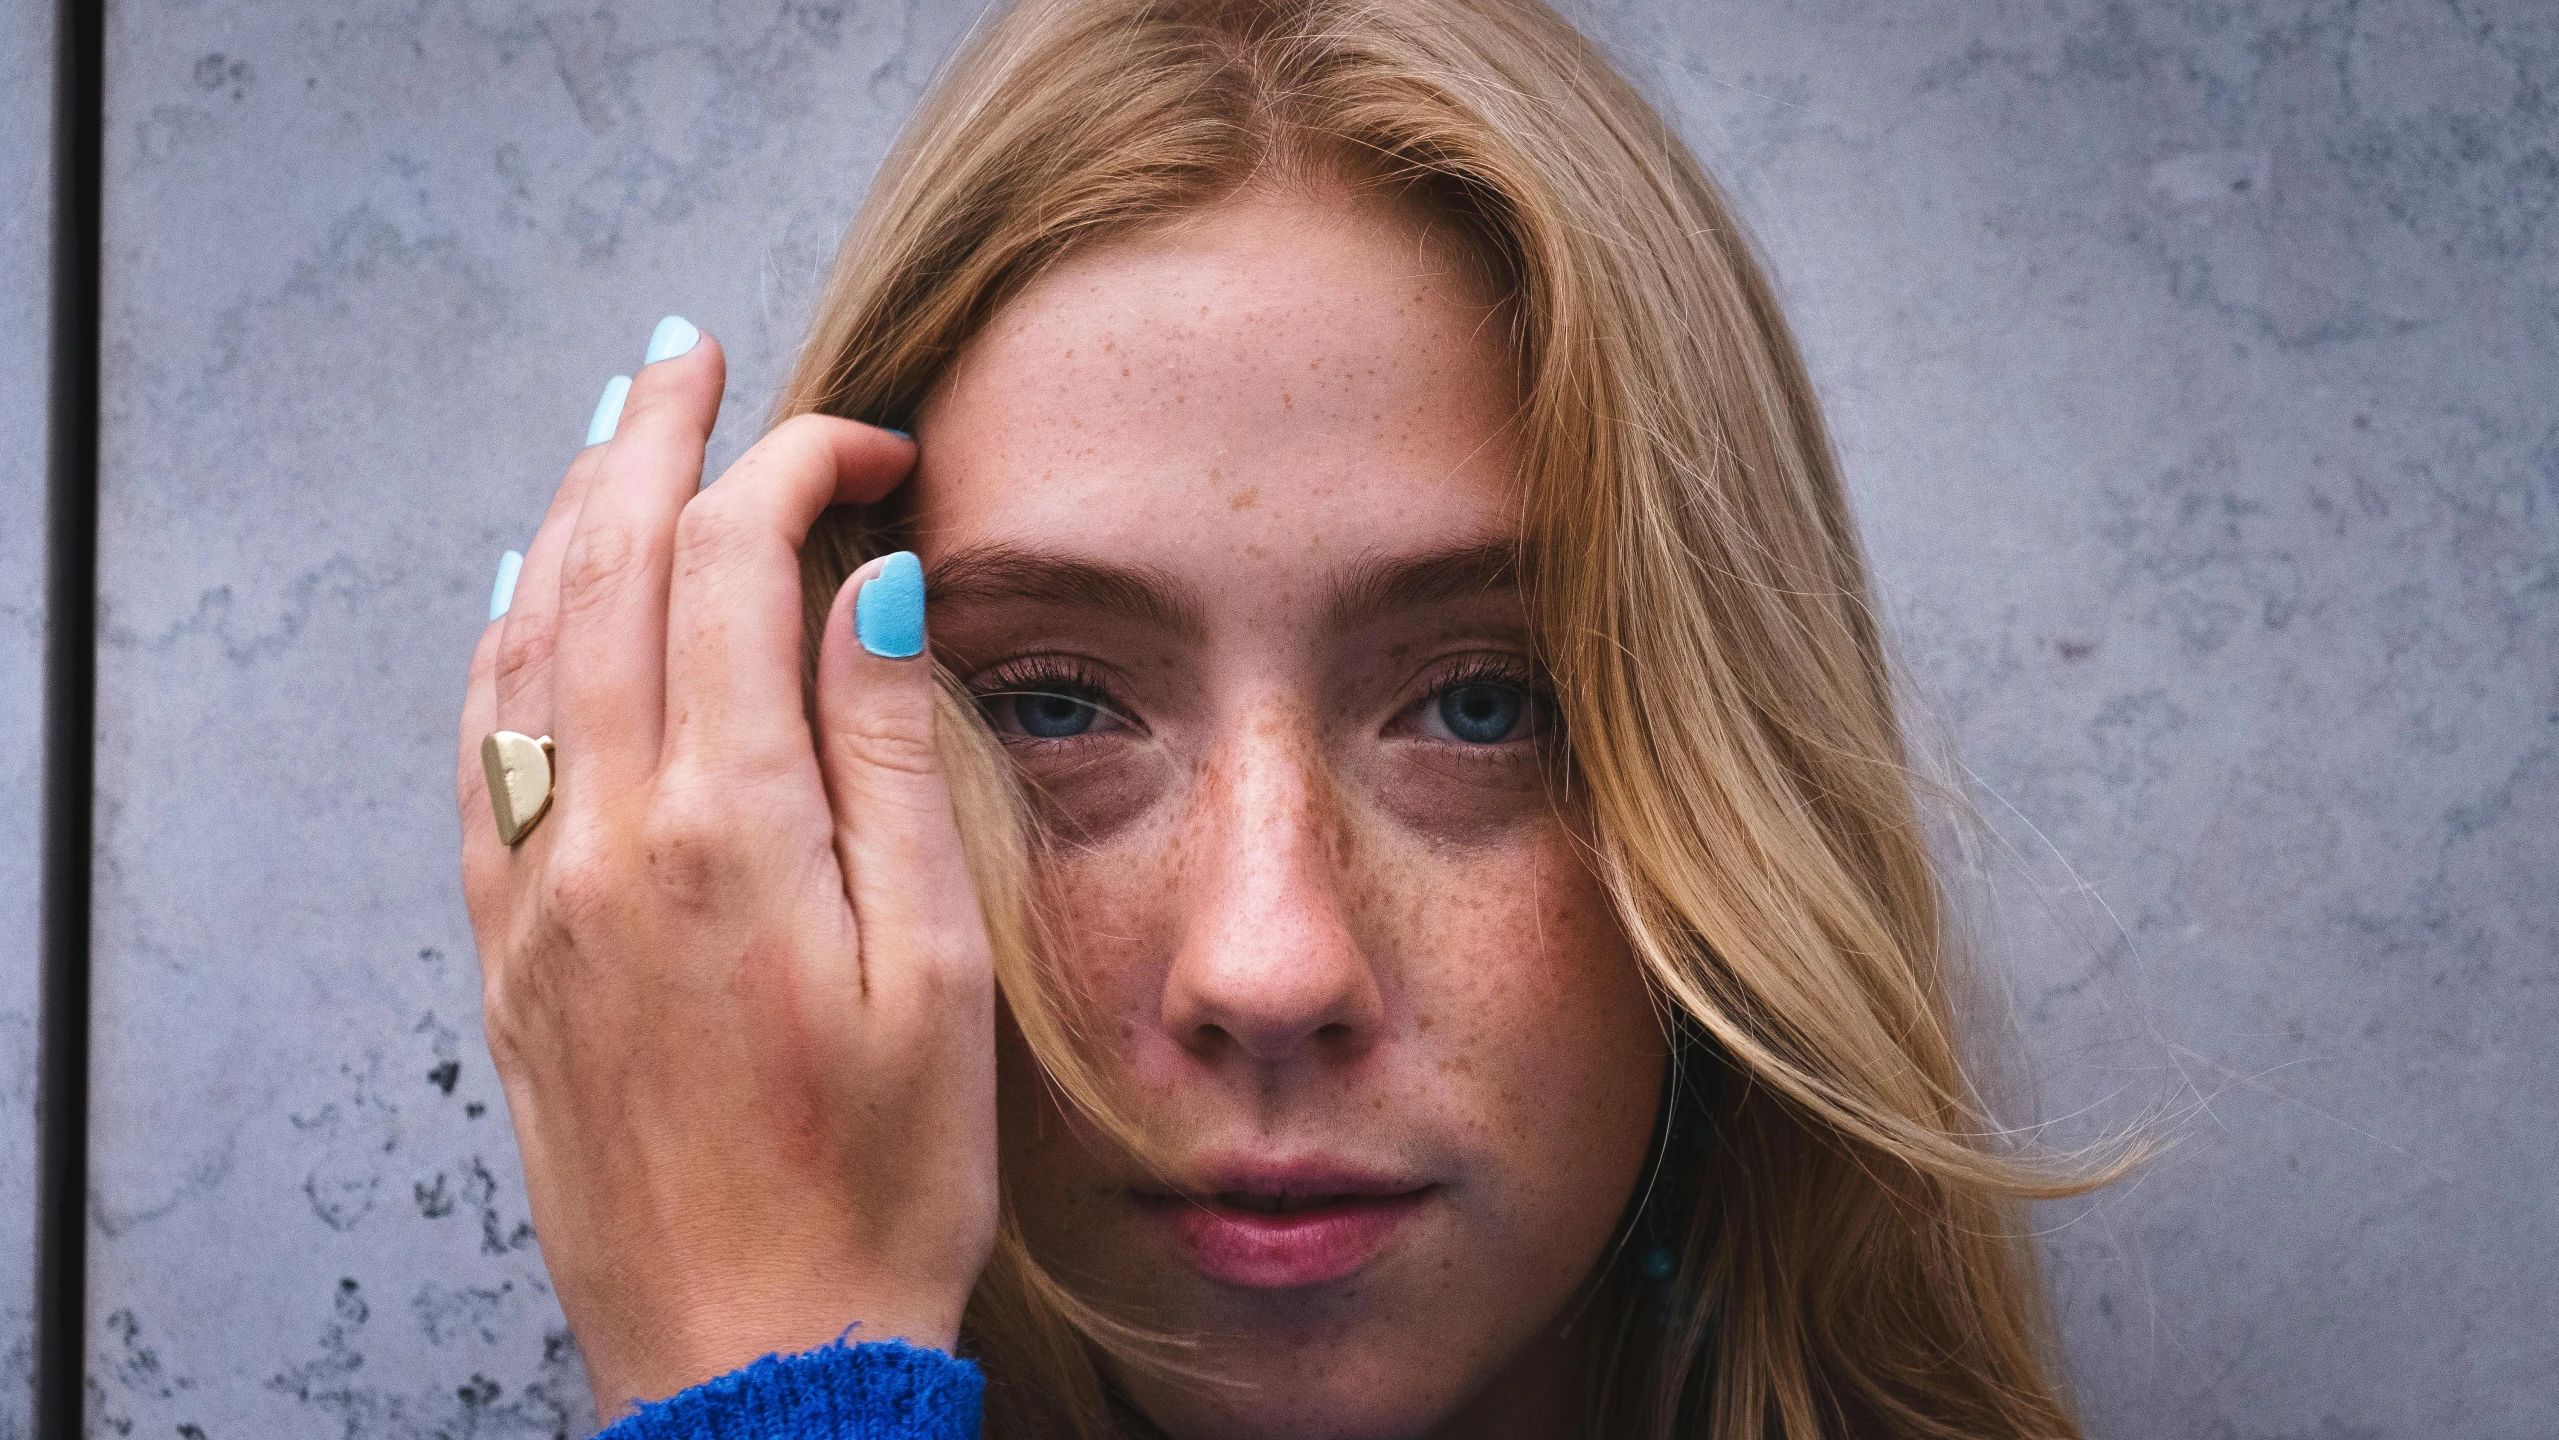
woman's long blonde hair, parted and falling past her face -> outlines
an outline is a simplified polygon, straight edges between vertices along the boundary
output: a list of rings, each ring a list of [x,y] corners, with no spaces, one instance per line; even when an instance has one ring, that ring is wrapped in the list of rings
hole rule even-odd
[[[1968,1079],[1960,957],[1812,384],[1715,184],[1569,23],[1538,0],[1026,0],[908,123],[778,417],[903,425],[1044,266],[1272,174],[1420,207],[1505,297],[1571,783],[1697,1072],[1638,1217],[1676,1274],[1602,1276],[1579,1320],[1594,1425],[2078,1435],[2022,1200],[2114,1166],[2004,1148]],[[893,522],[819,524],[811,655]],[[1065,1102],[1144,1146],[1039,962],[1006,762],[955,691],[942,719],[1006,1005]],[[1011,1212],[967,1335],[1006,1437],[1111,1435],[1095,1350],[1146,1350]]]

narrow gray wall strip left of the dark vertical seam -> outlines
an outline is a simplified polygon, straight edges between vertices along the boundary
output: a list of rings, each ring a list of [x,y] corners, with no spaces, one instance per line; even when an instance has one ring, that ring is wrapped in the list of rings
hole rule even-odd
[[[54,5],[0,0],[0,1440],[23,1440],[36,1302],[36,898]]]

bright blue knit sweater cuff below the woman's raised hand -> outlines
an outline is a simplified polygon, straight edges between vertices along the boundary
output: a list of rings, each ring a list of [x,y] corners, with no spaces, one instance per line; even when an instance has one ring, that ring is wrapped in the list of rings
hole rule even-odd
[[[642,1404],[596,1440],[978,1440],[985,1376],[903,1340],[837,1340]]]

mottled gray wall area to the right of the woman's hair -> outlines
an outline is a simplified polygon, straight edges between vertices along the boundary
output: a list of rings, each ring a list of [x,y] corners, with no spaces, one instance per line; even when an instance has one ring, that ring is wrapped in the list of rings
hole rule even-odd
[[[2009,888],[2047,1110],[2185,1105],[2052,1215],[2093,1427],[2559,1435],[2559,5],[1612,28],[1991,818],[2103,900]]]

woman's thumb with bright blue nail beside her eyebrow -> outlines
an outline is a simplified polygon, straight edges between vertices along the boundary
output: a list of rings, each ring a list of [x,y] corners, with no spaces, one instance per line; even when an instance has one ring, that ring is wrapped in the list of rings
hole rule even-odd
[[[983,987],[993,1005],[985,921],[934,749],[934,660],[914,555],[883,555],[837,591],[819,639],[816,724],[865,995]]]

